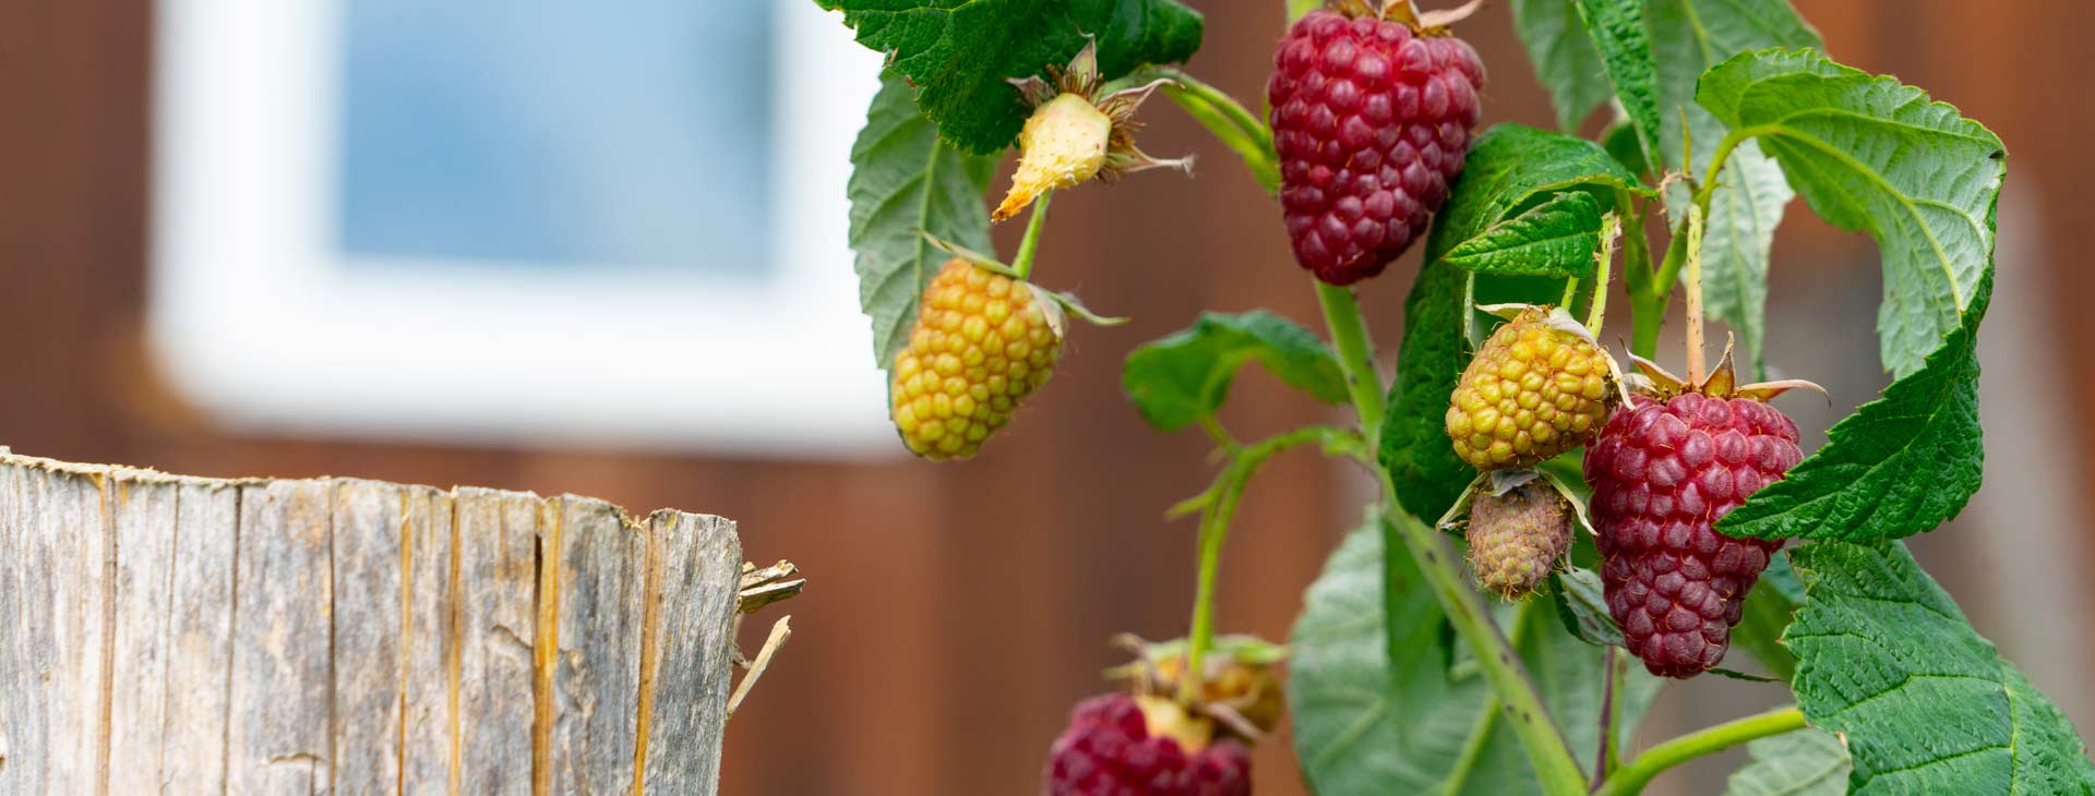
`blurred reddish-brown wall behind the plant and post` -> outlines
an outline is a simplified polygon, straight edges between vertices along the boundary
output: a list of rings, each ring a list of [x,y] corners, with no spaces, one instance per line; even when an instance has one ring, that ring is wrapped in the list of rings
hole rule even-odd
[[[1209,19],[1192,71],[1255,101],[1280,2],[1192,4]],[[2095,654],[2085,628],[2095,599],[2078,574],[2095,566],[2080,522],[2095,469],[2059,448],[2095,434],[2095,419],[2064,404],[2068,392],[2091,388],[2076,373],[2095,373],[2095,348],[2070,344],[2095,335],[2095,320],[2076,312],[2095,274],[2074,266],[2095,245],[2087,216],[2095,165],[2078,149],[2095,128],[2095,94],[2078,86],[2095,6],[1798,6],[1839,61],[1925,86],[2007,140],[2001,297],[1984,337],[1988,488],[1959,528],[1915,547],[1980,628],[2091,727],[2095,687],[2080,662]],[[1548,126],[1506,13],[1506,2],[1492,2],[1464,25],[1492,65],[1485,117]],[[1117,660],[1104,641],[1119,631],[1171,637],[1186,624],[1192,526],[1167,524],[1161,511],[1205,486],[1207,440],[1148,432],[1119,396],[1121,356],[1200,308],[1272,306],[1316,320],[1272,207],[1226,151],[1156,103],[1144,147],[1198,153],[1196,184],[1142,174],[1064,197],[1039,270],[1135,323],[1081,329],[1054,383],[978,461],[846,465],[230,436],[161,385],[140,341],[151,31],[149,2],[0,2],[0,444],[201,476],[484,484],[733,517],[746,557],[790,557],[811,587],[788,605],[792,645],[731,725],[727,794],[1033,792],[1064,710],[1098,691],[1098,670]],[[1846,411],[1883,381],[1867,337],[1875,249],[1802,205],[1783,233],[1770,362],[1827,383]],[[999,235],[1016,239],[1014,228]],[[1385,352],[1414,268],[1397,264],[1364,289]],[[1837,417],[1804,398],[1791,411],[1816,429]],[[1226,413],[1240,436],[1326,417],[1265,375],[1242,377]],[[1284,639],[1303,584],[1364,494],[1341,465],[1311,455],[1276,461],[1238,515],[1221,626]],[[2015,607],[2032,599],[2043,607]],[[744,643],[756,641],[748,631]],[[1712,679],[1674,687],[1647,737],[1777,698]],[[1267,746],[1257,765],[1261,794],[1301,790],[1284,746]],[[1710,794],[1724,771],[1722,760],[1693,767],[1657,790]]]

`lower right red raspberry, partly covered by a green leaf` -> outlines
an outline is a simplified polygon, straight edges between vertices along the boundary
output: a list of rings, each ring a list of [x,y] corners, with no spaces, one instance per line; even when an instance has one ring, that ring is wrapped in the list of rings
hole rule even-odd
[[[1586,450],[1607,607],[1653,675],[1724,660],[1745,593],[1783,543],[1724,536],[1716,522],[1798,459],[1798,423],[1774,406],[1695,392],[1632,398]]]

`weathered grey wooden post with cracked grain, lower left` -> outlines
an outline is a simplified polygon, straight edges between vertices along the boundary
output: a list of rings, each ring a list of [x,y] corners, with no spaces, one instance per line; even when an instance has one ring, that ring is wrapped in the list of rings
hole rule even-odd
[[[733,522],[0,448],[0,794],[712,794]]]

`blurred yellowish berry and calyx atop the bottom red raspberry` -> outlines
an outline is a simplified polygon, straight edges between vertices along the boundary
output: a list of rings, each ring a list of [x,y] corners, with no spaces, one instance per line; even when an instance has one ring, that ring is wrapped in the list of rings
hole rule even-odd
[[[1135,660],[1108,668],[1106,677],[1135,693],[1144,716],[1152,723],[1152,735],[1156,727],[1194,723],[1209,727],[1209,735],[1257,742],[1280,725],[1286,706],[1274,666],[1286,660],[1286,647],[1251,635],[1217,637],[1200,658],[1200,689],[1192,704],[1184,704],[1177,698],[1186,693],[1186,639],[1144,641],[1121,635],[1115,645],[1133,651]],[[1152,706],[1159,700],[1179,710]],[[1205,742],[1203,737],[1203,746]]]

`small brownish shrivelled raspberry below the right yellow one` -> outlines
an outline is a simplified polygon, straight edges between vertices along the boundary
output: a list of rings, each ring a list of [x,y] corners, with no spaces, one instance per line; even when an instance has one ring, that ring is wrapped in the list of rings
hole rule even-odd
[[[1571,513],[1542,480],[1504,494],[1477,492],[1469,509],[1469,568],[1477,584],[1523,599],[1557,570],[1571,547]]]

